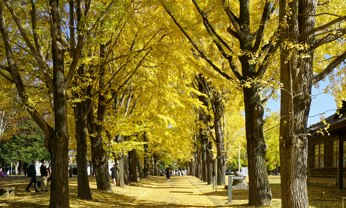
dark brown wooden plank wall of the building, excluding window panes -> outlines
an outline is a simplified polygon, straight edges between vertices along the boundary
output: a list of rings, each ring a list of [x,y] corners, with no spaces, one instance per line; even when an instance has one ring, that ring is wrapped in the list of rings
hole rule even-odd
[[[336,139],[337,136],[316,136],[309,137],[308,139],[308,177],[311,178],[333,178],[336,176],[336,168],[331,167],[331,152],[332,152],[332,141]],[[315,144],[324,143],[324,167],[314,168],[313,167],[313,146]],[[344,167],[344,173],[346,173],[346,168]],[[346,174],[344,174],[344,179],[346,179]]]

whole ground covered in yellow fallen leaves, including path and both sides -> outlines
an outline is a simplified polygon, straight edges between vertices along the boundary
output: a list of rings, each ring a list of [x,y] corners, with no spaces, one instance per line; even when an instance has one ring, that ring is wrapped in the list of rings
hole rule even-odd
[[[280,176],[269,176],[269,179],[273,194],[271,207],[279,208],[281,207]],[[90,176],[93,201],[78,199],[76,177],[69,180],[71,208],[248,207],[248,190],[233,190],[233,203],[226,205],[228,192],[224,186],[218,186],[218,191],[215,192],[212,190],[212,185],[206,185],[192,176],[172,176],[170,181],[160,176],[149,177],[139,183],[133,183],[132,186],[126,186],[125,189],[116,188],[113,193],[97,190],[95,177]],[[29,179],[26,176],[0,177],[0,187],[18,187],[16,197],[0,197],[0,207],[48,207],[49,192],[27,193],[24,190],[28,183]],[[30,190],[33,191],[34,187],[32,186]],[[342,197],[345,196],[335,194],[335,191],[335,188],[308,186],[310,207],[341,208]]]

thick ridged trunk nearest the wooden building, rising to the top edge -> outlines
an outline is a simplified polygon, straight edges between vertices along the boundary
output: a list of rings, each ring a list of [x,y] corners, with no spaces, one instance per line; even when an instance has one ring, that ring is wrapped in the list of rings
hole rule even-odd
[[[282,6],[286,3],[280,2],[279,19],[285,19],[285,11]],[[299,34],[304,34],[315,27],[317,0],[299,1],[293,0],[288,5],[291,7],[292,15],[287,18],[288,28],[282,28],[280,41],[288,40],[297,44]],[[297,12],[298,11],[298,12]],[[312,16],[301,16],[298,14],[309,14]],[[315,44],[315,35],[310,35],[299,43],[307,43],[311,47],[307,50],[293,51],[282,46],[280,53],[280,82],[281,108],[280,108],[280,165],[281,165],[281,200],[283,207],[308,208],[308,194],[306,175],[307,170],[307,137],[306,128],[311,104],[312,86],[312,46]],[[310,57],[297,58],[301,54]],[[293,113],[292,113],[293,112]]]

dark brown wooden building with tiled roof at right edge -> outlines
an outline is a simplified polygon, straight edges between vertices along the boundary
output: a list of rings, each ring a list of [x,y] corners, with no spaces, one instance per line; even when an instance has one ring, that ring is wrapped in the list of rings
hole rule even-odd
[[[308,136],[307,183],[337,187],[343,192],[346,188],[346,101],[337,113],[325,120],[327,124],[321,121],[308,128],[311,136]],[[327,125],[328,132],[324,129]]]

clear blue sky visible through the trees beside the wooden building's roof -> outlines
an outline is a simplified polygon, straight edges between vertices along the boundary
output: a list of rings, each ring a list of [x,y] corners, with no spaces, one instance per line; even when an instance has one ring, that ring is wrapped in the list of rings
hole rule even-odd
[[[337,107],[336,107],[334,96],[329,95],[327,93],[322,93],[328,84],[329,84],[329,80],[328,78],[326,78],[325,81],[319,81],[319,85],[320,85],[319,89],[312,86],[311,94],[317,95],[317,96],[315,97],[312,96],[308,126],[310,126],[310,124],[314,124],[321,121],[320,119],[321,116],[317,114],[328,111],[323,115],[325,118],[327,118],[328,116],[335,113],[335,110]],[[280,112],[280,100],[275,101],[273,99],[270,99],[266,107],[269,108],[271,111]],[[269,115],[269,112],[265,112],[264,114]],[[310,117],[310,116],[313,116],[313,117]]]

